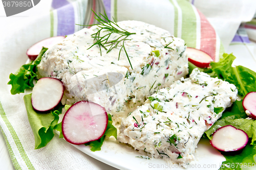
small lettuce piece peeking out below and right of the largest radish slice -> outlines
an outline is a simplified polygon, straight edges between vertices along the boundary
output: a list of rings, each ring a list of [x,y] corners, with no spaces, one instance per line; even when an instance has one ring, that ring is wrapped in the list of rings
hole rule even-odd
[[[111,114],[108,114],[109,116],[109,122],[108,122],[108,126],[106,127],[106,131],[104,133],[104,135],[99,138],[98,140],[94,140],[88,143],[85,143],[85,145],[90,145],[91,146],[91,151],[95,152],[95,151],[100,151],[101,150],[101,146],[103,144],[103,141],[105,139],[106,136],[114,136],[115,138],[117,138],[117,129],[112,125],[112,117]]]

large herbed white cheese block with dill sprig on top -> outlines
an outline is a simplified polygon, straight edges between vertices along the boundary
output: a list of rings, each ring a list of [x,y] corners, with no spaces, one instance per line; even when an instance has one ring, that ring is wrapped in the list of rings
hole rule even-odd
[[[124,41],[131,65],[119,43],[109,53],[92,46],[98,26],[84,28],[50,48],[38,65],[41,77],[60,79],[66,87],[62,104],[88,100],[121,118],[145,102],[147,96],[188,74],[186,46],[166,30],[141,21],[121,21],[118,26],[130,33]],[[101,35],[108,34],[101,32]],[[109,40],[120,35],[111,34]],[[91,47],[92,46],[92,47]],[[91,47],[91,48],[90,48]],[[120,81],[110,85],[109,73],[117,72]],[[121,76],[120,76],[121,75]],[[122,115],[122,116],[121,116]]]

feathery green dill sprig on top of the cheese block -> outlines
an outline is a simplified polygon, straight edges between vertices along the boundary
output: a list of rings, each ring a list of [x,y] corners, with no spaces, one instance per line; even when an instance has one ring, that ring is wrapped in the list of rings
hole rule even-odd
[[[100,55],[101,55],[101,47],[103,47],[106,50],[106,53],[109,53],[113,48],[116,48],[117,45],[120,43],[122,46],[121,46],[120,51],[119,51],[118,60],[120,58],[121,50],[123,49],[130,65],[133,69],[130,58],[129,58],[129,56],[126,52],[125,46],[124,46],[124,41],[125,40],[131,40],[131,39],[127,39],[127,37],[129,35],[136,34],[136,33],[130,33],[130,32],[127,32],[126,30],[120,28],[117,25],[114,17],[113,17],[114,22],[109,20],[105,11],[104,11],[104,15],[101,14],[101,13],[99,13],[100,15],[97,15],[94,11],[93,11],[93,13],[94,13],[94,18],[100,24],[95,24],[96,26],[99,27],[99,30],[96,33],[92,34],[91,36],[92,36],[92,38],[94,38],[96,40],[96,42],[92,46],[90,46],[87,50],[89,50],[94,45],[99,45],[99,50],[100,50]],[[103,19],[100,16],[102,16]],[[95,26],[95,25],[89,25],[89,26]],[[102,33],[102,32],[108,32],[108,34],[100,35],[100,33]],[[119,34],[120,36],[116,36],[114,40],[109,40],[110,36],[113,33]],[[109,47],[109,50],[108,50],[107,47]]]

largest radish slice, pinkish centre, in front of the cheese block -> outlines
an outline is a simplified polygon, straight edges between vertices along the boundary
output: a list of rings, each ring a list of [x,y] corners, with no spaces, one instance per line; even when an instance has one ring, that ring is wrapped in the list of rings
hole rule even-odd
[[[108,126],[104,107],[88,101],[72,105],[62,119],[62,134],[72,144],[83,144],[103,136]]]

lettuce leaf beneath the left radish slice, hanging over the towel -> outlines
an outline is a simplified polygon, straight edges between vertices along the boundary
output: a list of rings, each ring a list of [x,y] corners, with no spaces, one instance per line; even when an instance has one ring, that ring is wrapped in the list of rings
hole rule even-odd
[[[59,114],[63,106],[59,106],[54,111],[48,113],[38,113],[36,112],[31,103],[31,95],[27,94],[24,96],[24,103],[26,106],[29,124],[34,133],[35,138],[35,149],[45,147],[48,142],[54,136],[53,130],[59,128],[56,126],[59,120]],[[60,126],[61,128],[61,126]]]

